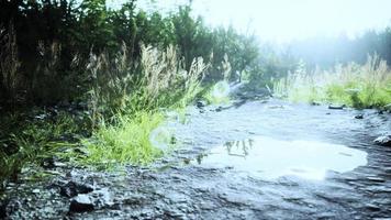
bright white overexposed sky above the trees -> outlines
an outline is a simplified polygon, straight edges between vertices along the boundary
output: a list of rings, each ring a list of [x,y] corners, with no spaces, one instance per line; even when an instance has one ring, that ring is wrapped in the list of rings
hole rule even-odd
[[[159,9],[183,2],[156,0]],[[233,25],[273,42],[380,30],[391,24],[390,9],[391,0],[193,0],[194,15],[208,24]]]

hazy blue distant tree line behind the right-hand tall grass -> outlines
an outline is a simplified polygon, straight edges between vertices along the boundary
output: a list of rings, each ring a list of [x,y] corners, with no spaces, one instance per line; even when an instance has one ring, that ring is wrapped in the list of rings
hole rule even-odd
[[[287,51],[303,59],[309,67],[333,67],[336,63],[355,62],[365,64],[368,55],[377,55],[391,64],[391,26],[381,31],[367,30],[355,37],[346,34],[338,36],[315,36],[304,41],[293,41]]]

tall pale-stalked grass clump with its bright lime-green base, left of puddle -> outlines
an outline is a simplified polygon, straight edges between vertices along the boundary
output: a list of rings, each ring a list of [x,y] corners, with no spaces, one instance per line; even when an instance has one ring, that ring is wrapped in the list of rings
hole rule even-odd
[[[150,132],[164,120],[158,109],[183,108],[192,101],[201,91],[208,66],[196,58],[186,70],[175,46],[161,51],[142,45],[138,64],[129,61],[125,46],[113,62],[107,54],[92,55],[89,106],[96,130],[83,140],[88,157],[82,163],[103,167],[146,164],[160,155],[149,141]]]

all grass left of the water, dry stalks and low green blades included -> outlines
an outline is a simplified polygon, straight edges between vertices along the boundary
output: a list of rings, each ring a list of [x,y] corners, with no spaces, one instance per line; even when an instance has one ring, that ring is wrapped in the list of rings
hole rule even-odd
[[[7,140],[18,152],[0,151],[0,166],[4,167],[0,178],[8,179],[25,164],[40,164],[53,156],[92,168],[115,168],[125,164],[147,165],[166,153],[150,140],[153,131],[165,120],[160,109],[177,110],[186,123],[183,109],[202,91],[201,80],[209,64],[199,57],[185,70],[175,46],[166,51],[142,46],[141,68],[134,67],[126,54],[124,47],[115,61],[104,54],[92,55],[87,70],[94,82],[86,95],[88,112],[81,123],[64,113],[55,120],[40,119],[29,127],[4,132],[15,134]],[[85,134],[75,139],[80,133]],[[72,143],[65,136],[71,136]],[[168,142],[169,146],[177,143],[167,132],[154,139]]]

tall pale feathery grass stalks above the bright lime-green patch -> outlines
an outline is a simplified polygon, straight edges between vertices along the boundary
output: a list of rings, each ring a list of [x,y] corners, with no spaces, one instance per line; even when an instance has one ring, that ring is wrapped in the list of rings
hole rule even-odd
[[[165,51],[141,47],[139,62],[127,56],[125,44],[114,57],[105,53],[90,55],[87,66],[92,79],[89,109],[94,124],[110,114],[183,107],[200,91],[209,67],[201,57],[186,70],[177,47],[171,45]]]

